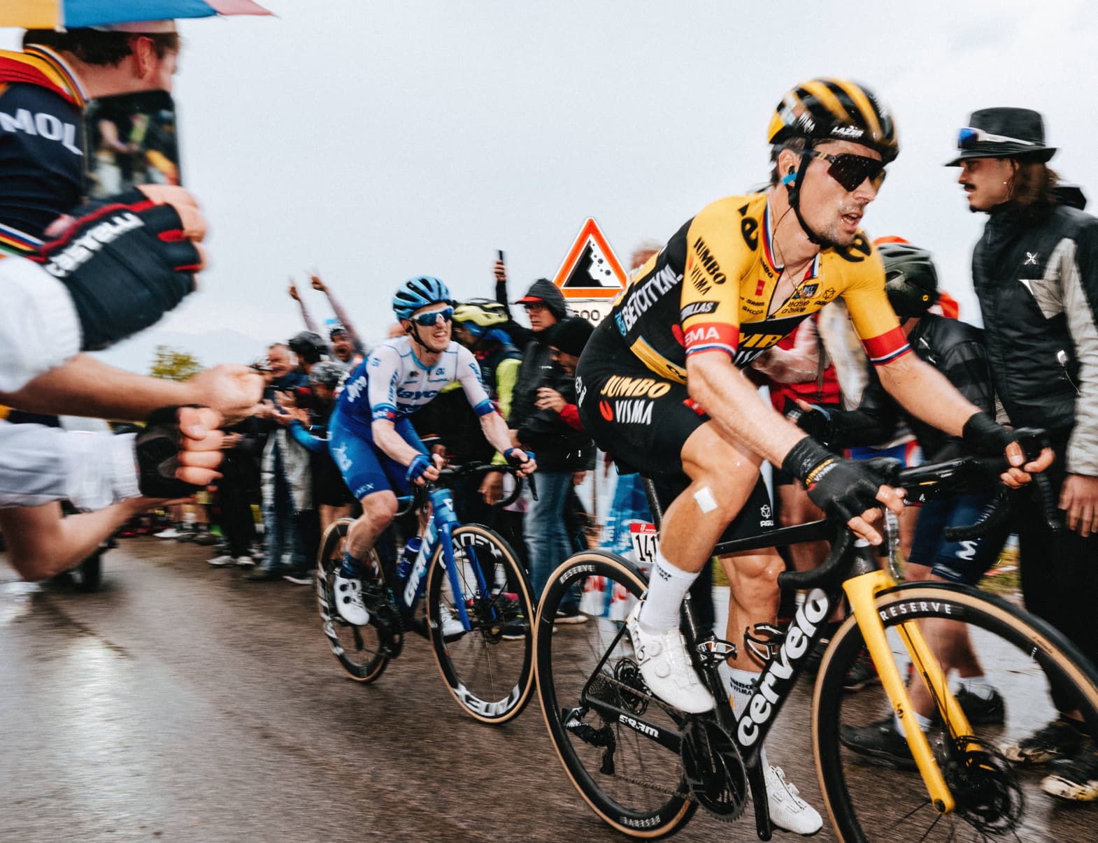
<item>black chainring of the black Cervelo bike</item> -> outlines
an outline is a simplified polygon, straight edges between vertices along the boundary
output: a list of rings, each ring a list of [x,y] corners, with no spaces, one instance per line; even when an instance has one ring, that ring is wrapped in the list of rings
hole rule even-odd
[[[728,732],[708,719],[692,717],[683,730],[683,771],[697,803],[718,820],[743,813],[748,774]]]

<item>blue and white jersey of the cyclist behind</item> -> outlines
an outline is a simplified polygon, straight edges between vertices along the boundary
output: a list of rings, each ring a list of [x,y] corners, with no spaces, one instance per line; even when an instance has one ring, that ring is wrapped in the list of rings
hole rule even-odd
[[[374,348],[344,383],[338,412],[350,426],[369,429],[376,419],[396,423],[427,404],[455,381],[478,416],[494,411],[472,352],[455,341],[439,361],[425,367],[412,352],[412,338],[388,339]]]

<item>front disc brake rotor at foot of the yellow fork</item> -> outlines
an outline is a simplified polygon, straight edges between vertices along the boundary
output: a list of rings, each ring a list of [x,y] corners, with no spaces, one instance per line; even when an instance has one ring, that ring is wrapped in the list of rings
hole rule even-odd
[[[957,738],[942,772],[956,799],[954,812],[985,834],[1007,834],[1021,824],[1026,797],[1010,762],[993,749],[970,750],[975,738]]]

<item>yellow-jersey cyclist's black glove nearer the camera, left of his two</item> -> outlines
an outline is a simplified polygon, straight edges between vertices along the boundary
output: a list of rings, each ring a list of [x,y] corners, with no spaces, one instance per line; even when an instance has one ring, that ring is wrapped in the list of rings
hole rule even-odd
[[[785,454],[782,469],[804,482],[816,506],[843,522],[879,506],[877,490],[887,480],[871,463],[837,457],[807,436]]]

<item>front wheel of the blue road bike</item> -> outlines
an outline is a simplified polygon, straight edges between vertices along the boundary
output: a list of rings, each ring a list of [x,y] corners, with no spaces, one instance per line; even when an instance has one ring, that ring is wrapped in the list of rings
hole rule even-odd
[[[506,541],[478,524],[451,533],[460,594],[450,587],[439,546],[427,575],[427,618],[432,649],[446,687],[471,717],[505,723],[522,713],[534,685],[534,616],[530,583]],[[478,572],[486,588],[480,587]],[[471,629],[460,625],[463,600]],[[460,629],[460,626],[458,626]]]

